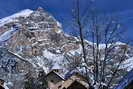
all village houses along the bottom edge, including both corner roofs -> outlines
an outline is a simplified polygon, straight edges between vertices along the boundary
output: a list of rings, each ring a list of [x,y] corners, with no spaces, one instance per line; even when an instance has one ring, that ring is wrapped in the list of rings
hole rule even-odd
[[[62,72],[62,69],[53,69],[45,76],[48,89],[90,89],[87,79],[82,74],[73,72],[73,74],[64,78]],[[8,89],[5,88],[4,82],[0,79],[0,89]],[[123,87],[125,87],[124,89],[133,89],[133,70],[121,79],[120,84],[114,89],[123,89]],[[106,87],[103,89],[106,89]]]

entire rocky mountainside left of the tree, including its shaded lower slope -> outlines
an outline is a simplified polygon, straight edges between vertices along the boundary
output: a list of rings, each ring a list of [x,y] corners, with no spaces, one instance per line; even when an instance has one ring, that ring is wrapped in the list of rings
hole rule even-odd
[[[27,73],[36,77],[40,68],[48,72],[61,64],[66,53],[80,48],[77,39],[64,34],[61,24],[42,8],[22,12],[26,15],[18,13],[0,21],[0,39],[3,34],[4,37],[11,35],[0,43],[0,78],[11,82],[10,87],[14,89],[23,88]]]

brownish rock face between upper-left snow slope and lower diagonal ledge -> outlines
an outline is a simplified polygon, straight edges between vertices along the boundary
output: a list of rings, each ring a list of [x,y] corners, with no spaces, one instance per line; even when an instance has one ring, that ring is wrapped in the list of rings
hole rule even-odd
[[[44,60],[57,62],[70,51],[77,49],[80,51],[79,40],[64,34],[61,24],[42,8],[32,13],[30,11],[29,15],[13,18],[12,21],[0,27],[0,34],[10,31],[14,25],[17,25],[19,31],[3,45],[32,63],[36,63],[36,66],[43,67],[46,64],[42,56]],[[41,60],[37,60],[36,57],[41,57]]]

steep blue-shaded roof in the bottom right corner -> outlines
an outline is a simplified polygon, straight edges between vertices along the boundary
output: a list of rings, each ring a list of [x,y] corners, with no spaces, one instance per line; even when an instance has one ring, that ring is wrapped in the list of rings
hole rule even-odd
[[[124,89],[126,86],[128,86],[133,81],[133,69],[128,72],[126,76],[124,76],[119,83],[118,86],[116,86],[114,89]]]

